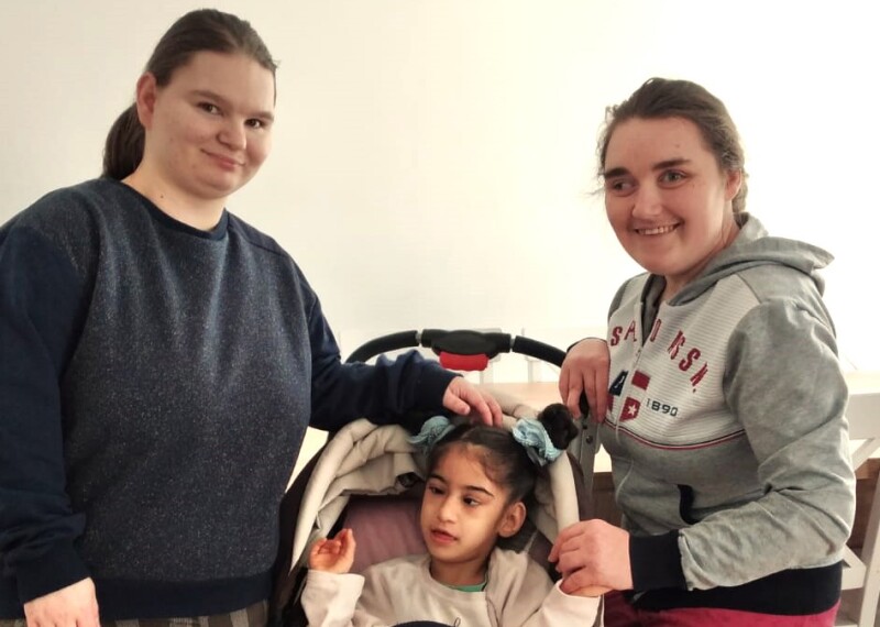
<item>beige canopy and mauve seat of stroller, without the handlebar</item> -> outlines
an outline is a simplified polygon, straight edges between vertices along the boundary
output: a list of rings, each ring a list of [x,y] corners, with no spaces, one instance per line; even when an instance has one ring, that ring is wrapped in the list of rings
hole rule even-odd
[[[515,400],[499,399],[505,425],[537,411]],[[516,416],[513,413],[517,413]],[[353,529],[358,549],[352,572],[392,558],[425,552],[418,508],[426,479],[426,460],[399,426],[376,426],[361,419],[340,430],[297,481],[305,483],[293,525],[289,569],[279,578],[273,603],[274,623],[306,625],[299,604],[312,542],[343,527]],[[588,495],[580,464],[562,455],[539,476],[535,499],[522,529],[499,544],[528,550],[543,565],[557,534],[588,513]],[[304,475],[308,473],[306,479]],[[297,487],[294,483],[292,491]],[[288,493],[289,494],[289,493]],[[548,572],[550,572],[548,570]]]

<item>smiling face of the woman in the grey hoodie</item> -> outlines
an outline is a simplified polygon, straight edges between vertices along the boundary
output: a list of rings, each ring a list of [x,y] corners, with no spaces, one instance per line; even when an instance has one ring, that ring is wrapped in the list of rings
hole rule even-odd
[[[613,132],[603,168],[605,210],[627,253],[667,280],[670,298],[737,234],[739,170],[724,172],[683,118],[632,118]]]

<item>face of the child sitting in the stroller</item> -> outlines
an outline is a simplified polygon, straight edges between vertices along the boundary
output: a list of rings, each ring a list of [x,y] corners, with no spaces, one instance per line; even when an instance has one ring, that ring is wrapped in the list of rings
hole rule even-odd
[[[486,475],[474,449],[451,447],[429,476],[421,502],[431,575],[448,585],[481,583],[498,536],[513,536],[525,520],[522,503],[508,504],[508,491]]]

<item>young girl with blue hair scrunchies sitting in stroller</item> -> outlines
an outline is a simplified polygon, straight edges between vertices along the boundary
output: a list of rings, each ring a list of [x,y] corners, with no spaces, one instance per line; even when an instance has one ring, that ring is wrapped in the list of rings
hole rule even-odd
[[[513,430],[428,420],[410,439],[428,455],[420,509],[427,554],[385,561],[361,575],[349,572],[351,530],[317,541],[301,596],[309,625],[601,625],[603,590],[564,594],[527,553],[496,546],[520,530],[541,466],[575,433],[559,404]]]

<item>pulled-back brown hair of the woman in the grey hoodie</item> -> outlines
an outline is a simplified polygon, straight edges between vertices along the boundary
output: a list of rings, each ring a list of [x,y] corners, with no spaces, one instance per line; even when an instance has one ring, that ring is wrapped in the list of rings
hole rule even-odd
[[[748,186],[745,151],[736,124],[724,102],[704,87],[690,80],[649,78],[629,98],[605,110],[605,127],[600,134],[596,148],[600,176],[605,172],[605,156],[614,131],[622,122],[634,118],[642,120],[684,118],[696,124],[703,143],[715,155],[718,166],[725,172],[743,173],[743,184],[733,205],[734,213],[746,210]]]

